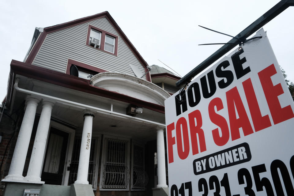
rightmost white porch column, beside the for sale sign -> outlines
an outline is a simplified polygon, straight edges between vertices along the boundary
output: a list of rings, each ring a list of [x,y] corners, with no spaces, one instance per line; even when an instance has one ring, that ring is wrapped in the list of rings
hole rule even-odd
[[[159,187],[168,187],[166,185],[165,175],[165,150],[164,150],[164,130],[163,128],[157,128],[157,178]]]

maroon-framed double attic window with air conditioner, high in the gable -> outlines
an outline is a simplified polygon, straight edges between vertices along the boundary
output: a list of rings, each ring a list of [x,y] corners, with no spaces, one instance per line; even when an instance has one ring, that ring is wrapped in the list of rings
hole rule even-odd
[[[119,37],[95,26],[88,26],[86,45],[117,56]]]

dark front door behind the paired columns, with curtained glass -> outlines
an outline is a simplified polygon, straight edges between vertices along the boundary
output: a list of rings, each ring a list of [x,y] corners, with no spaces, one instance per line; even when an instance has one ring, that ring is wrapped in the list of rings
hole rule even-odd
[[[41,180],[45,184],[62,184],[68,133],[50,128]]]

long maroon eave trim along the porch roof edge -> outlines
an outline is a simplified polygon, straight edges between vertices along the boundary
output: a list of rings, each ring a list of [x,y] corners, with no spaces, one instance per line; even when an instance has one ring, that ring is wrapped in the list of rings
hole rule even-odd
[[[43,67],[30,65],[28,63],[12,60],[10,63],[11,70],[15,74],[30,77],[36,80],[44,81],[50,84],[74,89],[93,95],[107,97],[113,100],[123,101],[129,104],[138,105],[147,109],[164,114],[164,106],[139,100],[118,92],[109,91],[89,84],[89,80],[64,74],[58,71],[49,70]]]

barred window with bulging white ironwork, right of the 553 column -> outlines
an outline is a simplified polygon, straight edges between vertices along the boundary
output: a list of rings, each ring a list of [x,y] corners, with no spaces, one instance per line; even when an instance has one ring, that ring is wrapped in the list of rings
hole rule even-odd
[[[103,188],[129,187],[129,168],[127,166],[127,141],[106,139],[107,151],[104,154]]]

